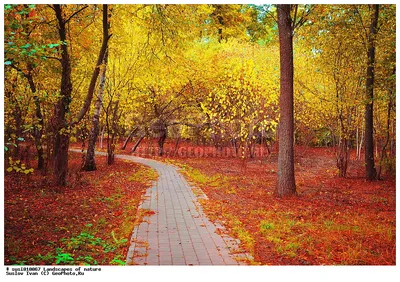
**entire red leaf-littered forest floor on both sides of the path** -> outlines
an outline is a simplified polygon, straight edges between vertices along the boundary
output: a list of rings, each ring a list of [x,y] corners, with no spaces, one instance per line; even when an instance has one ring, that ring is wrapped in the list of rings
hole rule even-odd
[[[73,156],[67,188],[46,187],[38,174],[6,174],[6,264],[123,264],[140,197],[156,175],[118,159],[108,167],[104,157],[98,171],[82,174],[79,154]],[[254,264],[396,263],[395,178],[365,181],[361,161],[352,158],[348,177],[339,178],[332,149],[297,147],[298,196],[278,199],[275,153],[244,161],[154,158],[180,166],[206,193],[207,216],[241,240]]]

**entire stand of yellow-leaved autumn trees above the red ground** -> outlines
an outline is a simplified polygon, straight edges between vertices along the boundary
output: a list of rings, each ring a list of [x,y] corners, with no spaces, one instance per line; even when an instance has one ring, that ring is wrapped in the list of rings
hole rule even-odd
[[[157,137],[159,152],[167,138],[176,138],[176,148],[188,138],[251,152],[277,140],[278,130],[283,197],[296,192],[294,143],[334,146],[346,176],[350,150],[360,159],[364,149],[365,108],[373,105],[381,175],[394,164],[394,6],[318,5],[309,16],[310,7],[115,5],[108,42],[101,5],[6,5],[7,142],[33,141],[39,165],[40,155],[52,155],[62,185],[69,142],[88,127],[92,168],[99,128],[110,160],[118,136],[136,139],[134,148],[144,136]],[[372,61],[371,46],[380,50]]]

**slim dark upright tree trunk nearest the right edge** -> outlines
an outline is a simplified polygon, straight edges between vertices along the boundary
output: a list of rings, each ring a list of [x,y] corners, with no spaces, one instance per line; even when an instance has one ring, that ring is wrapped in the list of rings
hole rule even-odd
[[[374,161],[374,67],[375,67],[375,37],[377,34],[379,17],[379,5],[374,5],[374,15],[371,19],[371,26],[368,36],[368,67],[366,80],[366,100],[365,105],[365,163],[366,179],[376,179],[376,169]]]

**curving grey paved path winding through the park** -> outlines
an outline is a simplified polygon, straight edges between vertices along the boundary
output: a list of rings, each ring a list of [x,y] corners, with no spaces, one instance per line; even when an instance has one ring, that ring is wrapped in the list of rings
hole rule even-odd
[[[216,233],[223,226],[209,221],[197,201],[206,196],[196,197],[177,167],[129,155],[115,157],[150,166],[159,175],[139,206],[139,212],[153,212],[144,213],[133,230],[128,265],[246,264],[250,256],[238,251],[240,241]]]

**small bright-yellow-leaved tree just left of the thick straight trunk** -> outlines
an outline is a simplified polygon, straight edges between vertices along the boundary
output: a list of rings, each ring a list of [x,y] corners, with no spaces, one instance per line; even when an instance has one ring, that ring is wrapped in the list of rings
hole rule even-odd
[[[276,129],[277,80],[271,79],[275,72],[268,67],[276,63],[273,58],[276,53],[271,48],[270,54],[265,55],[263,48],[251,47],[250,44],[240,44],[243,46],[240,50],[239,43],[234,40],[218,44],[222,44],[220,52],[213,49],[210,54],[213,57],[208,59],[216,70],[202,75],[203,79],[211,76],[208,80],[214,81],[214,84],[207,88],[203,86],[202,91],[208,94],[197,97],[201,113],[207,121],[204,135],[212,140],[217,149],[231,144],[237,156],[254,157],[256,143],[265,144],[266,136],[273,135]],[[247,52],[253,52],[247,61],[237,59]],[[263,66],[256,66],[260,61],[264,62]],[[206,68],[207,65],[203,66]]]

